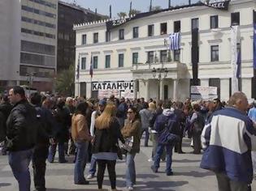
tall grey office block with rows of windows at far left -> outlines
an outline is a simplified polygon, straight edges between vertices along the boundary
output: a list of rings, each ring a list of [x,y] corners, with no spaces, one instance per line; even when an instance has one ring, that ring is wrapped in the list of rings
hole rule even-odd
[[[52,91],[57,61],[58,0],[0,2],[0,86]]]

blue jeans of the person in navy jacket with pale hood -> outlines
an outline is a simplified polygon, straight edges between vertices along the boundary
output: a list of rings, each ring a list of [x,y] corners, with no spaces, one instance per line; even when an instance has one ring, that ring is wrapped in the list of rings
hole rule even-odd
[[[166,171],[167,173],[171,172],[171,163],[172,163],[172,149],[173,149],[173,145],[169,144],[169,145],[163,145],[163,144],[159,144],[156,148],[156,153],[154,155],[154,168],[158,169],[160,167],[160,159],[161,159],[161,155],[163,154],[163,150],[164,147],[166,147],[166,151],[167,151],[167,167],[166,167]]]

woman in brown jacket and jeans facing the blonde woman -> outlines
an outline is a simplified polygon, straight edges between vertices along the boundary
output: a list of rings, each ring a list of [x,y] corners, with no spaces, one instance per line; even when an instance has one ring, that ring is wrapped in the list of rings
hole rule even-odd
[[[125,123],[122,129],[124,138],[132,138],[132,150],[126,155],[126,186],[128,190],[133,190],[133,185],[136,184],[136,172],[134,158],[140,152],[141,138],[141,119],[137,108],[128,108],[128,122]]]

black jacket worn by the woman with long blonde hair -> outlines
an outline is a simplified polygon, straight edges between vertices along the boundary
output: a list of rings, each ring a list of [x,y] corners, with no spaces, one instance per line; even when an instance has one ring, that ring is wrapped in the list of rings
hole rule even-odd
[[[93,143],[93,153],[114,152],[117,153],[118,139],[124,142],[124,138],[120,132],[119,121],[113,119],[111,125],[107,129],[95,130],[95,141]]]

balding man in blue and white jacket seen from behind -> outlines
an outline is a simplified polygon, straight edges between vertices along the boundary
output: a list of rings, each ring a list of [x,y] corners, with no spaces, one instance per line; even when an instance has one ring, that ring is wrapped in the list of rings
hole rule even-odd
[[[229,107],[216,111],[202,132],[201,168],[215,172],[219,191],[247,191],[253,180],[251,151],[256,151],[256,129],[246,115],[248,100],[234,93]]]

